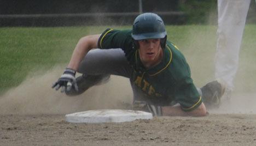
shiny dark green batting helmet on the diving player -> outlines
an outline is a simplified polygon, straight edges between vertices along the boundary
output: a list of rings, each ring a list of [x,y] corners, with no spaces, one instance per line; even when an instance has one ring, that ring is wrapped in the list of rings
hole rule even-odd
[[[131,34],[133,40],[161,39],[161,47],[164,48],[166,34],[164,21],[157,14],[144,13],[138,15],[133,22]]]

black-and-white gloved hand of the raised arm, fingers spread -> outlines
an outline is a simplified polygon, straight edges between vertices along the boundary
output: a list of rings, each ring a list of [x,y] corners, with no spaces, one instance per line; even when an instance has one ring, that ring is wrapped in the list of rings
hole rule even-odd
[[[66,68],[59,80],[55,82],[51,88],[55,88],[56,90],[61,88],[61,92],[67,93],[70,92],[72,88],[78,91],[77,82],[75,81],[75,70]]]

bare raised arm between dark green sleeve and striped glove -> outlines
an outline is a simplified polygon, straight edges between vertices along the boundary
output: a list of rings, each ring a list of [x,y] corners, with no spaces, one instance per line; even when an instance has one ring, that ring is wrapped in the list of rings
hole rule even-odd
[[[84,56],[92,49],[97,48],[98,38],[101,34],[88,35],[81,38],[74,48],[72,57],[68,64],[69,69],[78,70],[80,62],[82,62]]]

